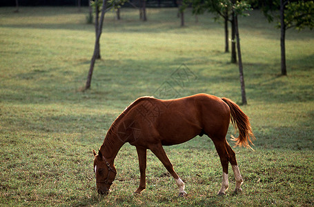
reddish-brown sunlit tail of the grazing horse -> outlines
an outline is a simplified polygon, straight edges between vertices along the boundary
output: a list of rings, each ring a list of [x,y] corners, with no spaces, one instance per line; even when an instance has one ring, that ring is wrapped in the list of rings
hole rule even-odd
[[[222,98],[222,100],[227,103],[230,108],[231,122],[233,124],[233,127],[235,128],[235,130],[239,130],[239,137],[233,137],[233,135],[231,135],[231,139],[233,141],[236,141],[235,144],[237,146],[245,146],[247,148],[251,148],[249,143],[253,144],[252,139],[255,139],[255,137],[253,135],[250,121],[248,121],[248,116],[246,116],[241,108],[237,106],[237,103],[226,98]]]

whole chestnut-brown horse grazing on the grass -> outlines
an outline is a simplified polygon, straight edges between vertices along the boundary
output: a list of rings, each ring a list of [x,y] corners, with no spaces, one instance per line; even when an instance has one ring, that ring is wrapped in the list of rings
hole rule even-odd
[[[248,117],[230,99],[206,94],[171,100],[153,97],[137,99],[112,123],[98,155],[93,150],[97,192],[108,194],[117,175],[115,157],[121,146],[128,142],[136,147],[139,156],[141,178],[135,193],[141,193],[146,188],[146,150],[150,149],[175,179],[179,195],[186,195],[184,182],[173,170],[173,164],[162,146],[181,144],[197,135],[208,135],[213,140],[222,163],[222,188],[218,194],[226,195],[228,189],[228,162],[235,175],[235,193],[242,192],[243,179],[235,152],[226,141],[230,119],[239,130],[239,137],[233,137],[236,145],[251,148],[248,142],[252,143],[251,138],[255,137]]]

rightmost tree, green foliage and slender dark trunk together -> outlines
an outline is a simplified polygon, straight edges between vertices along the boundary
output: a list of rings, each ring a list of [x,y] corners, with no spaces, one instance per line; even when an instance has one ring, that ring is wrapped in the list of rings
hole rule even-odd
[[[280,28],[281,72],[287,75],[286,70],[286,30],[295,28],[314,28],[314,2],[292,0],[266,0],[262,5],[259,1],[251,0],[255,5],[262,6],[262,10],[268,21],[278,19]],[[279,14],[277,11],[279,10]]]

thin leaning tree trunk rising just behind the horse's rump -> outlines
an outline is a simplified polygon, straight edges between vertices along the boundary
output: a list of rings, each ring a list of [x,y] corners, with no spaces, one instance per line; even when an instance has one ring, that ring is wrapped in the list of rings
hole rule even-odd
[[[240,37],[239,37],[239,25],[237,23],[237,15],[235,15],[235,36],[237,37],[237,57],[239,59],[239,78],[240,78],[240,83],[241,83],[242,104],[246,105],[248,104],[248,101],[246,101],[242,55],[241,55]]]

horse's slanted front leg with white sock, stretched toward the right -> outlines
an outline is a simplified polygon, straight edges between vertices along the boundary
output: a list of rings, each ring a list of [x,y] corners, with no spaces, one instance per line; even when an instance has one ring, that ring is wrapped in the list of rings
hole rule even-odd
[[[161,163],[164,164],[165,168],[175,179],[175,182],[179,187],[179,196],[184,197],[186,195],[186,192],[184,191],[184,182],[179,178],[177,172],[173,170],[173,164],[171,164],[164,148],[161,146],[161,144],[154,144],[150,147],[150,150],[156,155],[156,157],[158,157]]]

